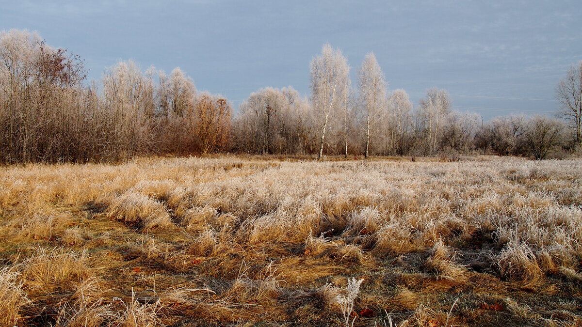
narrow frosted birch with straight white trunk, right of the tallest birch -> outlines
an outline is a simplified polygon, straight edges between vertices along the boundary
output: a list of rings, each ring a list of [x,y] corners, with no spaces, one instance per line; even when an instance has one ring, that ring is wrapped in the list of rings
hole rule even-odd
[[[360,97],[365,111],[365,150],[364,158],[368,158],[370,149],[370,134],[378,122],[379,114],[384,107],[386,81],[382,68],[373,52],[368,53],[358,71]]]

